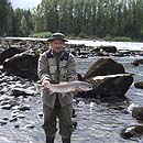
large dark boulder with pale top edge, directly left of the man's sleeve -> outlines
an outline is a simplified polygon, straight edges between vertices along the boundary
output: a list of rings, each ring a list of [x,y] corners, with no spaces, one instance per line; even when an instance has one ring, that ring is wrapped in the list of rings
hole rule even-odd
[[[38,54],[24,52],[7,58],[3,63],[3,70],[33,80],[37,79]]]

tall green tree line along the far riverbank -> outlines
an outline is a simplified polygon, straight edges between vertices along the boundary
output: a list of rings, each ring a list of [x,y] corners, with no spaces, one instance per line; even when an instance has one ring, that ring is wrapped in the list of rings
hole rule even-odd
[[[0,36],[41,32],[141,38],[143,0],[42,0],[33,10],[0,1]]]

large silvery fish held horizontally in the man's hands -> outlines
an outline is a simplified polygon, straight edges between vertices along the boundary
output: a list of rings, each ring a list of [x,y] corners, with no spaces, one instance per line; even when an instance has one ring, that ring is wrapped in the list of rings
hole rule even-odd
[[[74,92],[74,91],[89,91],[92,90],[92,85],[85,82],[85,81],[79,81],[79,80],[74,80],[69,82],[59,82],[59,84],[48,84],[44,89],[48,89],[51,94],[53,92],[59,92],[65,97],[67,92]]]

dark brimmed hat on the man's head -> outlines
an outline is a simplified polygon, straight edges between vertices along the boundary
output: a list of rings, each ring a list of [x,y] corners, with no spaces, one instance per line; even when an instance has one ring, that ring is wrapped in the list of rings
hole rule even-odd
[[[66,38],[65,38],[65,35],[62,34],[62,33],[54,33],[47,41],[48,42],[52,42],[54,40],[62,40],[64,42],[68,42]]]

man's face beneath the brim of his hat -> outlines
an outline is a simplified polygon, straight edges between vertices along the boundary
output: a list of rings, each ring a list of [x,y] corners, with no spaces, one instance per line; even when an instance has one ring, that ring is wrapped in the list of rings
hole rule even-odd
[[[63,51],[65,42],[62,40],[54,40],[52,41],[51,45],[54,52],[59,53]]]

